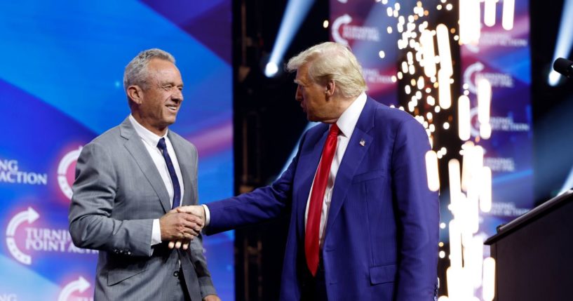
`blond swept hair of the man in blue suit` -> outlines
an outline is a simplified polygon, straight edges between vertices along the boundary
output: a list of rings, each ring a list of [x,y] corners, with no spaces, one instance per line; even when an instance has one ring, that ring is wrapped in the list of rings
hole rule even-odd
[[[353,98],[368,90],[362,67],[350,48],[334,42],[312,46],[291,58],[286,69],[293,72],[309,64],[309,78],[315,83],[335,81],[343,98]]]

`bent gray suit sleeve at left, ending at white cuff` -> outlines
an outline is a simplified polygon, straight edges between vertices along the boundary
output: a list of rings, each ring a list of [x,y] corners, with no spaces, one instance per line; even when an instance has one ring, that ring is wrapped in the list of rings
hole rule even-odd
[[[83,147],[72,189],[69,233],[76,246],[123,255],[151,256],[153,220],[111,218],[118,187],[109,149],[97,142]]]

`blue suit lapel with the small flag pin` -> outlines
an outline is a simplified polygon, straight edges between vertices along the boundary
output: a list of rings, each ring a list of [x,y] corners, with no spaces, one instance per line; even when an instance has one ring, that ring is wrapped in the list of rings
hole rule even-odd
[[[330,229],[335,222],[340,208],[342,208],[342,204],[344,203],[344,199],[346,199],[346,193],[356,174],[356,170],[363,161],[364,156],[368,153],[370,145],[372,145],[372,136],[369,135],[368,132],[374,127],[374,102],[375,100],[371,99],[366,101],[366,105],[362,113],[360,113],[352,137],[344,152],[342,162],[340,162],[336,174],[335,187],[332,190],[332,199],[330,199],[330,210],[328,211],[325,235],[328,235],[328,229]]]

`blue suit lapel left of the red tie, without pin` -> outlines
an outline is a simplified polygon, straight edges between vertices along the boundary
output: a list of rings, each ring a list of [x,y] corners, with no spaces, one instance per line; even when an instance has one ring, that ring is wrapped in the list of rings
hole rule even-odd
[[[295,200],[297,216],[299,217],[297,227],[299,237],[304,237],[304,212],[306,210],[306,202],[309,200],[312,181],[314,180],[316,168],[318,168],[318,162],[321,160],[321,154],[327,135],[328,126],[325,126],[323,133],[318,135],[318,140],[304,142],[299,156],[299,162],[297,163],[297,166],[302,166],[302,168],[299,168],[302,185],[299,187],[298,198]],[[310,147],[306,147],[306,145]]]

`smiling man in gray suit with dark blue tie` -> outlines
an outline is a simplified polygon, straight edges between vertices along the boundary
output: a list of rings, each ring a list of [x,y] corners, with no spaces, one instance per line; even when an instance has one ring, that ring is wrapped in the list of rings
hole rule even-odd
[[[142,51],[123,85],[131,114],[83,147],[69,208],[76,246],[100,250],[95,300],[220,300],[203,222],[175,210],[197,203],[197,151],[168,131],[183,101],[173,55]]]

